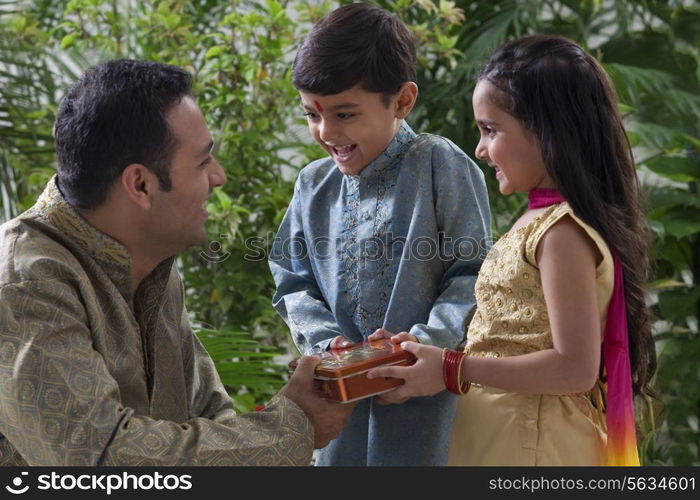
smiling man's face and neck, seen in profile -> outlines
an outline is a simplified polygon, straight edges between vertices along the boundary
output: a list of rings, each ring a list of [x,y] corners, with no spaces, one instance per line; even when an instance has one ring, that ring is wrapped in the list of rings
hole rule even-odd
[[[166,118],[175,138],[169,168],[172,189],[155,193],[149,226],[153,243],[174,255],[207,241],[207,199],[214,187],[226,181],[226,175],[211,155],[209,129],[191,98],[184,97]]]

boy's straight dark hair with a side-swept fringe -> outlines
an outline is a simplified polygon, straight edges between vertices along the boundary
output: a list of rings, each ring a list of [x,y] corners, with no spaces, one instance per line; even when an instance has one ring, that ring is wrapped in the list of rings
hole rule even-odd
[[[357,84],[385,96],[416,80],[416,48],[406,25],[367,3],[340,7],[318,21],[296,58],[297,90],[338,94]]]

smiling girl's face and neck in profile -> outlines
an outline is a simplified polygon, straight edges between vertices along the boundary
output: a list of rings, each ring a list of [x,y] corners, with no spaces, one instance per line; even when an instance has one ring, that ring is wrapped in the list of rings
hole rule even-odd
[[[553,188],[535,135],[520,120],[499,108],[492,100],[498,92],[487,80],[479,80],[472,106],[481,138],[476,157],[496,169],[502,194],[527,192],[534,188]]]

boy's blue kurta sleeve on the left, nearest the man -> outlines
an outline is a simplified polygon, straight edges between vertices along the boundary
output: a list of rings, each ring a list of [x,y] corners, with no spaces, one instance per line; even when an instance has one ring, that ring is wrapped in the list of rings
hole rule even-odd
[[[272,305],[292,332],[299,352],[325,351],[343,331],[318,286],[309,259],[302,223],[299,181],[282,220],[269,258],[277,289]]]

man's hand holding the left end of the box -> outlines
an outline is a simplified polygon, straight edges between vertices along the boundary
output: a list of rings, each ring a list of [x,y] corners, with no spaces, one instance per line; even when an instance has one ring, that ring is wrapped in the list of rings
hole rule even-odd
[[[294,401],[314,426],[314,448],[323,448],[335,438],[350,417],[355,403],[336,403],[321,398],[314,391],[313,374],[321,361],[317,356],[299,360],[289,383],[279,392]]]

